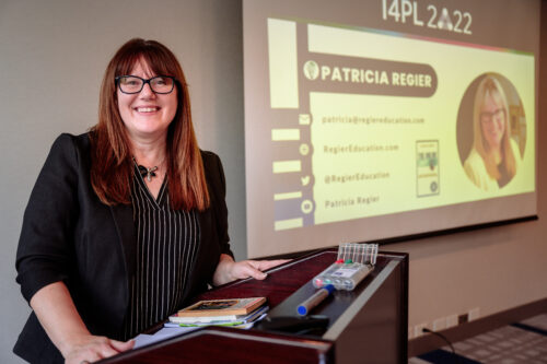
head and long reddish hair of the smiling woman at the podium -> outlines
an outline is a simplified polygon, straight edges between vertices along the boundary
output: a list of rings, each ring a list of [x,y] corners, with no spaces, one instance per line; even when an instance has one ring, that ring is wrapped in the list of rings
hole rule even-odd
[[[160,83],[159,75],[172,80],[168,92],[152,90]],[[132,86],[126,87],[129,84]],[[202,210],[208,204],[186,78],[176,57],[163,45],[133,39],[118,50],[103,79],[100,120],[92,131],[96,131],[96,137],[91,136],[96,148],[91,178],[104,203],[129,202],[129,186],[119,181],[127,180],[131,169],[118,165],[135,160],[147,168],[158,167],[159,178],[147,179],[154,198],[167,174],[174,209]]]

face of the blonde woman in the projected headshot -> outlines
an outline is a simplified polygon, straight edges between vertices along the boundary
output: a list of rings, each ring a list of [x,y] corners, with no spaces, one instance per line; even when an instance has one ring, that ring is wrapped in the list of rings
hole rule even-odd
[[[480,108],[480,128],[490,149],[498,149],[501,145],[503,133],[505,132],[505,109],[492,94],[485,97]]]

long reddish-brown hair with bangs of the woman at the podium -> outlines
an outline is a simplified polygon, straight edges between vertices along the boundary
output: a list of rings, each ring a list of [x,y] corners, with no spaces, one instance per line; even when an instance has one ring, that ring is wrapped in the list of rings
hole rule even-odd
[[[119,115],[115,78],[129,74],[144,61],[155,74],[173,75],[177,87],[177,110],[167,129],[166,157],[171,207],[205,210],[209,193],[200,151],[191,124],[186,79],[175,55],[155,40],[135,38],[118,49],[106,68],[101,85],[98,122],[91,131],[91,183],[105,204],[130,202],[132,156],[126,127]]]

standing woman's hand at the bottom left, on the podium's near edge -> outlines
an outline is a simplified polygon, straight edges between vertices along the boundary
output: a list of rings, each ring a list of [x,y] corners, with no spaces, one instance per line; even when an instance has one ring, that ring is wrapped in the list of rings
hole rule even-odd
[[[93,363],[130,350],[133,345],[133,340],[123,342],[90,334],[74,338],[70,343],[61,348],[61,353],[65,356],[66,364]]]

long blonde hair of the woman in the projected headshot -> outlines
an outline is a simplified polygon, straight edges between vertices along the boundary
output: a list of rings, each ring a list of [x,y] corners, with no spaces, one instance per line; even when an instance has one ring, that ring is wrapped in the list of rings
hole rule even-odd
[[[492,97],[492,99],[503,108],[505,128],[501,141],[501,153],[502,163],[505,166],[505,171],[509,173],[510,178],[512,178],[516,173],[515,155],[513,155],[513,149],[511,148],[510,141],[510,125],[509,125],[509,107],[505,97],[505,93],[500,82],[492,74],[488,74],[480,81],[477,93],[475,95],[475,108],[474,108],[474,146],[477,152],[482,156],[485,161],[486,171],[490,177],[494,179],[500,178],[500,172],[496,165],[492,154],[490,153],[490,145],[482,134],[482,128],[480,125],[480,113],[481,107],[485,104],[487,97]]]

